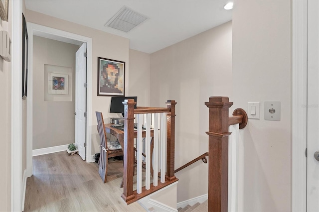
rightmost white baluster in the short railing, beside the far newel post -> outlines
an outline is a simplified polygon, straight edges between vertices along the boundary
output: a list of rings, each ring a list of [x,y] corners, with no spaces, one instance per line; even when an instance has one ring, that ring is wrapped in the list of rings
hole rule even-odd
[[[160,118],[160,182],[165,183],[166,172],[166,113],[161,113]]]

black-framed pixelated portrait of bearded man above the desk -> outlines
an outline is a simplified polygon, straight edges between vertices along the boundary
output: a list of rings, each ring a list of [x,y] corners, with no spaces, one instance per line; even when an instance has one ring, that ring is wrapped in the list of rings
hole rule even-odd
[[[123,96],[125,62],[98,57],[98,96]]]

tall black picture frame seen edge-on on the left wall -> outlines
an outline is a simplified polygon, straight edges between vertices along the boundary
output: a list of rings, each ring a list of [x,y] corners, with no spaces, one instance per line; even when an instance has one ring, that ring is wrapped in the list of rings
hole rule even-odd
[[[26,29],[25,17],[22,13],[22,99],[27,97],[28,82],[28,32]]]

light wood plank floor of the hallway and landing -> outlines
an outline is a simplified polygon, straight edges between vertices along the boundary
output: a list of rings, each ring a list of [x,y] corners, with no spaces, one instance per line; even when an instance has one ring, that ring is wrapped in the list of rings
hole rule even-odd
[[[107,183],[97,163],[57,152],[33,157],[33,176],[27,178],[24,212],[145,212],[137,202],[121,198],[122,161],[109,162]]]

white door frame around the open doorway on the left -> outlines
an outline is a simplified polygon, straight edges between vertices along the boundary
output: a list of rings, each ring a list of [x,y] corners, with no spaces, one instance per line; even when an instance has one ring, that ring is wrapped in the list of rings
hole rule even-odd
[[[42,26],[35,23],[27,23],[29,35],[29,69],[28,69],[28,90],[32,91],[32,76],[33,76],[33,34],[43,32],[59,37],[64,37],[72,40],[85,42],[87,44],[87,94],[86,94],[86,161],[93,162],[92,154],[92,38],[82,35]],[[32,92],[28,92],[26,106],[26,176],[32,176]]]

